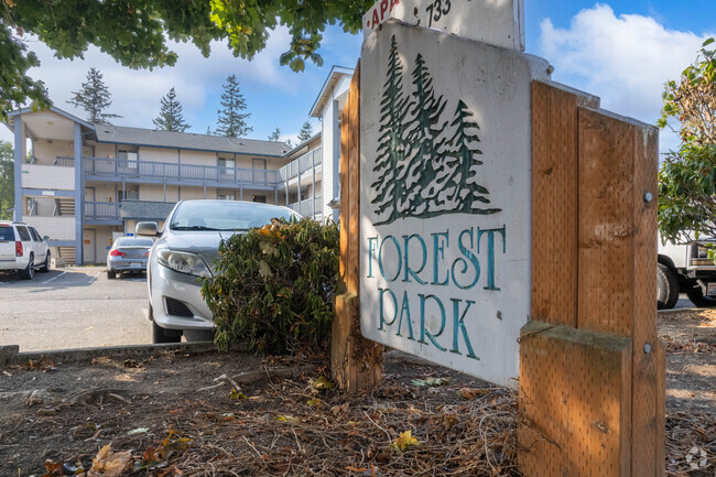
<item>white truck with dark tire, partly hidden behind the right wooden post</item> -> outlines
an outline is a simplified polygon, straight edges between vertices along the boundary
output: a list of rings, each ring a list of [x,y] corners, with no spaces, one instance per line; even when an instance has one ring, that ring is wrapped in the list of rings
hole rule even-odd
[[[662,245],[659,241],[657,270],[657,306],[673,308],[679,293],[699,307],[716,306],[716,264],[708,258],[704,245],[716,240],[699,240],[688,245]]]

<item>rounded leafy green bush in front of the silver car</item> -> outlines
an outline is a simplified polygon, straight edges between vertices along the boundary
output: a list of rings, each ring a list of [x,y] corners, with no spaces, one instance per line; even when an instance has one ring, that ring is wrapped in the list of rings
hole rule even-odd
[[[285,353],[328,343],[338,289],[338,227],[308,218],[274,219],[219,247],[202,294],[214,314],[216,343],[248,339],[253,350]]]

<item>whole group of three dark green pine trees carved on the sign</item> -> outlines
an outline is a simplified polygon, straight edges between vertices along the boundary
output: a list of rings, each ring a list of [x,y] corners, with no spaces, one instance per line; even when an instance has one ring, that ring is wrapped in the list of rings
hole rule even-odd
[[[403,66],[395,36],[380,101],[380,128],[370,185],[376,196],[376,226],[399,218],[444,214],[489,215],[488,188],[479,184],[479,124],[460,99],[454,119],[443,120],[447,106],[435,94],[433,77],[421,54],[412,72],[413,91],[403,93]]]

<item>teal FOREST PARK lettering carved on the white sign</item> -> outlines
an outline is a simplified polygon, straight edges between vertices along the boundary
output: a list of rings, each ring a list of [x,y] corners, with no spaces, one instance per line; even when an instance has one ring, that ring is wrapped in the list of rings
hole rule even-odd
[[[468,312],[470,315],[476,312],[476,302],[445,297],[445,292],[473,290],[479,285],[488,292],[499,292],[496,257],[500,249],[502,254],[507,252],[506,226],[469,227],[457,234],[447,229],[428,236],[368,237],[366,277],[388,283],[388,286],[378,288],[378,329],[420,344],[432,344],[441,351],[449,347],[451,353],[462,355],[463,349],[467,357],[479,359],[465,326]],[[414,285],[403,285],[409,283]],[[425,286],[425,293],[415,293],[416,286]],[[406,290],[401,294],[399,289]],[[412,317],[416,317],[415,323]],[[441,343],[441,336],[451,332],[452,342]]]

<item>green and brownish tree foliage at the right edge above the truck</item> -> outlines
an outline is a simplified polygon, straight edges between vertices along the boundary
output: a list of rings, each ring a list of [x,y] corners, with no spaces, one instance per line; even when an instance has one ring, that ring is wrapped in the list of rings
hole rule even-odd
[[[659,126],[681,135],[659,171],[662,240],[684,243],[716,237],[716,51],[704,42],[695,64],[666,83]],[[675,124],[669,123],[675,121]]]

